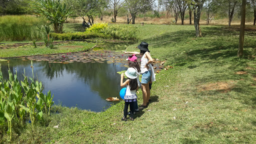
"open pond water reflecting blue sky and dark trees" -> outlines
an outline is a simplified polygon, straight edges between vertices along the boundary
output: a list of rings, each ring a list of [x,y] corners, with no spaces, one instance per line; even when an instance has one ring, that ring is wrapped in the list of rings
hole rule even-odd
[[[5,79],[8,78],[8,63],[0,61],[1,71]],[[18,80],[25,75],[32,77],[31,61],[10,59],[9,68],[12,72],[17,70]],[[91,111],[102,111],[116,103],[106,101],[107,97],[119,97],[120,75],[117,71],[125,70],[114,63],[73,62],[49,63],[47,61],[33,61],[34,78],[43,84],[43,93],[48,90],[54,94],[55,104],[63,106],[77,106]]]

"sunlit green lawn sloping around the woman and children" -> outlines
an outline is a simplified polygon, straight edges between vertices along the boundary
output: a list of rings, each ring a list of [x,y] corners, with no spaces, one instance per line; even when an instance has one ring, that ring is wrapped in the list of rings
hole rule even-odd
[[[166,59],[151,89],[151,103],[121,121],[124,102],[104,112],[54,106],[50,117],[31,130],[13,134],[14,143],[254,143],[256,141],[256,38],[247,26],[244,56],[236,56],[236,27],[136,25],[139,41],[153,58]],[[246,74],[237,74],[246,71]],[[138,104],[142,103],[139,90]],[[50,122],[49,122],[50,121]],[[59,124],[58,128],[53,128]],[[4,134],[2,141],[7,141]],[[130,138],[129,138],[130,137]]]

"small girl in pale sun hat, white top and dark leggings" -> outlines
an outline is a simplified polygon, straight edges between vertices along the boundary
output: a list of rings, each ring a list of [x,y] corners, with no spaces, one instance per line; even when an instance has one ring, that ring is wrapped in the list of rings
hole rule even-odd
[[[137,83],[137,74],[136,70],[132,67],[129,67],[125,72],[125,75],[128,77],[126,81],[123,82],[123,73],[121,74],[121,81],[120,86],[126,87],[126,92],[124,95],[124,109],[123,109],[123,117],[121,120],[127,121],[127,114],[128,114],[128,106],[130,106],[130,120],[134,120],[133,113],[135,112],[135,102],[137,100],[136,90],[138,89]]]

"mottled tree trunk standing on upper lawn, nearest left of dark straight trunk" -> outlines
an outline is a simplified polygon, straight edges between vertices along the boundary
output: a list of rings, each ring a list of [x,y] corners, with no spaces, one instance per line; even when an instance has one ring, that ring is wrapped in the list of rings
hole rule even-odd
[[[202,5],[198,5],[197,10],[194,9],[195,37],[202,37],[201,28],[200,28],[200,24],[199,24],[200,15],[201,15],[201,8],[202,8]]]

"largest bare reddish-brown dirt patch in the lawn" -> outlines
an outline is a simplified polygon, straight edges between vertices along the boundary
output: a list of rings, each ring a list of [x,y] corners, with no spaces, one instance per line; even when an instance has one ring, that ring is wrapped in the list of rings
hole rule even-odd
[[[208,83],[205,85],[198,86],[198,91],[208,91],[208,90],[218,90],[221,92],[228,92],[231,91],[231,88],[234,85],[234,81],[228,82],[215,82],[215,83]]]

